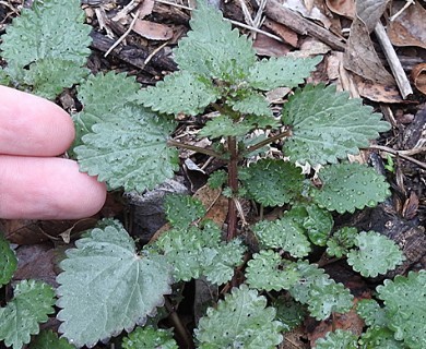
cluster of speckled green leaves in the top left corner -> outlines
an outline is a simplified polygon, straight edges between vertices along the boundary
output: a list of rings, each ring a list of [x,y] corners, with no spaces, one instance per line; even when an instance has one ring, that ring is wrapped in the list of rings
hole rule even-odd
[[[91,26],[79,0],[36,0],[2,35],[3,82],[54,99],[88,74]]]

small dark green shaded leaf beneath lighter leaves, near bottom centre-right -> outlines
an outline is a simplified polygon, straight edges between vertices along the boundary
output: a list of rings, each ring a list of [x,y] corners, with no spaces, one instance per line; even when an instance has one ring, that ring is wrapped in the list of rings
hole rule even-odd
[[[282,323],[283,332],[291,332],[306,317],[305,306],[291,298],[280,297],[272,302],[272,306],[276,309],[275,318]]]

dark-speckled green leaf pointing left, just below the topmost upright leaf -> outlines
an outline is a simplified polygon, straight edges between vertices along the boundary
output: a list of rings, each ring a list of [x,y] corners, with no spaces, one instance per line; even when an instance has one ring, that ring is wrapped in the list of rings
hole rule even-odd
[[[166,75],[153,87],[139,93],[139,99],[154,111],[197,116],[220,97],[210,80],[189,72]]]

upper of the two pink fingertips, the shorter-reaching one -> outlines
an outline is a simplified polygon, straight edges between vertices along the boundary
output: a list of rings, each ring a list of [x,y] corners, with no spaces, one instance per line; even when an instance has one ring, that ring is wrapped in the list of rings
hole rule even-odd
[[[0,86],[0,154],[55,156],[74,135],[70,116],[54,103]]]

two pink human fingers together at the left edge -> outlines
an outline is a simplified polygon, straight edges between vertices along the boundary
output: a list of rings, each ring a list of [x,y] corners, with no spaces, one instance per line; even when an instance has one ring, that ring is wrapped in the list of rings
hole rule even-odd
[[[78,219],[97,213],[106,185],[55,157],[74,139],[69,115],[57,105],[0,86],[0,217]]]

